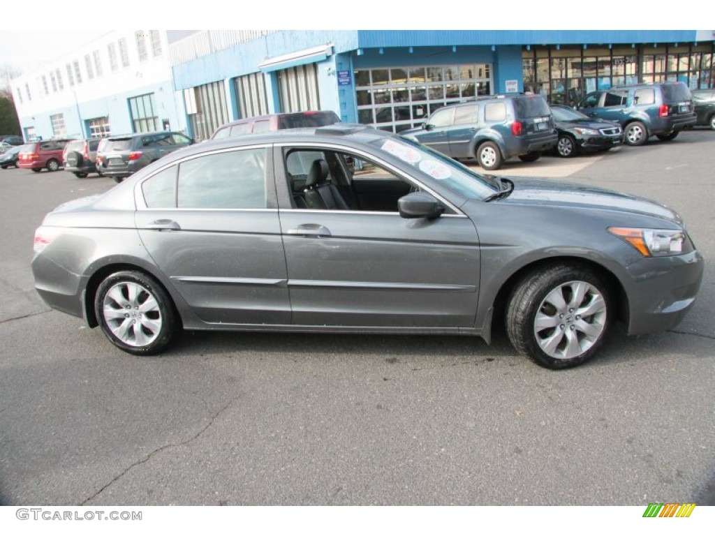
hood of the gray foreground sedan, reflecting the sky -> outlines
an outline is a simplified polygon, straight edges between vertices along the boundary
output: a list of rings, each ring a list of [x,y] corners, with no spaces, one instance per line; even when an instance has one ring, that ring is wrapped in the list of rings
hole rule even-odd
[[[668,219],[678,225],[683,224],[677,212],[643,197],[571,182],[524,179],[523,177],[507,178],[514,183],[514,190],[511,195],[501,199],[499,203],[620,210]]]

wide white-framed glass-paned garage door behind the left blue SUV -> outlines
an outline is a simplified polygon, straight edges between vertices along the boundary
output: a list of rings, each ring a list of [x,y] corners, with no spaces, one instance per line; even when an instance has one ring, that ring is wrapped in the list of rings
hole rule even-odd
[[[358,121],[390,132],[421,126],[445,104],[491,94],[491,73],[491,64],[358,69]]]

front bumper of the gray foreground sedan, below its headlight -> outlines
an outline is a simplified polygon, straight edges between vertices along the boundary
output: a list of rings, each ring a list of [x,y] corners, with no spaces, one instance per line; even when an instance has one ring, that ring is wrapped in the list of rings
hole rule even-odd
[[[628,334],[676,327],[693,307],[704,264],[696,250],[676,257],[649,257],[628,266]]]

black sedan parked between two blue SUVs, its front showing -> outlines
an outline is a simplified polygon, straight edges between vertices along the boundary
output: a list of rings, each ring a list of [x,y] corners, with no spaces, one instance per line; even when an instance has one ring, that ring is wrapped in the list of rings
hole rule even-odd
[[[563,158],[578,153],[608,151],[623,144],[623,129],[618,123],[593,119],[563,104],[551,104],[558,143],[553,149]]]

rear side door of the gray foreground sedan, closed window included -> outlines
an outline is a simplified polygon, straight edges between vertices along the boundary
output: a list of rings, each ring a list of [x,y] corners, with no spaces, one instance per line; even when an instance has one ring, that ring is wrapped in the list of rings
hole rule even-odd
[[[137,183],[142,243],[209,324],[290,324],[285,255],[266,145],[222,149]]]

